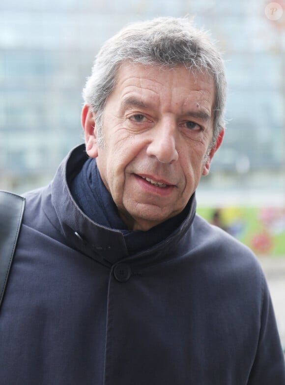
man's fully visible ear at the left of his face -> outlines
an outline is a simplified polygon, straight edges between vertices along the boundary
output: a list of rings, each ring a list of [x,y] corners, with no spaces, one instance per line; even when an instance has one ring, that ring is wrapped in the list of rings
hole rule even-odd
[[[86,152],[90,158],[98,156],[96,140],[95,116],[89,105],[84,105],[81,113],[81,124],[84,131]]]

